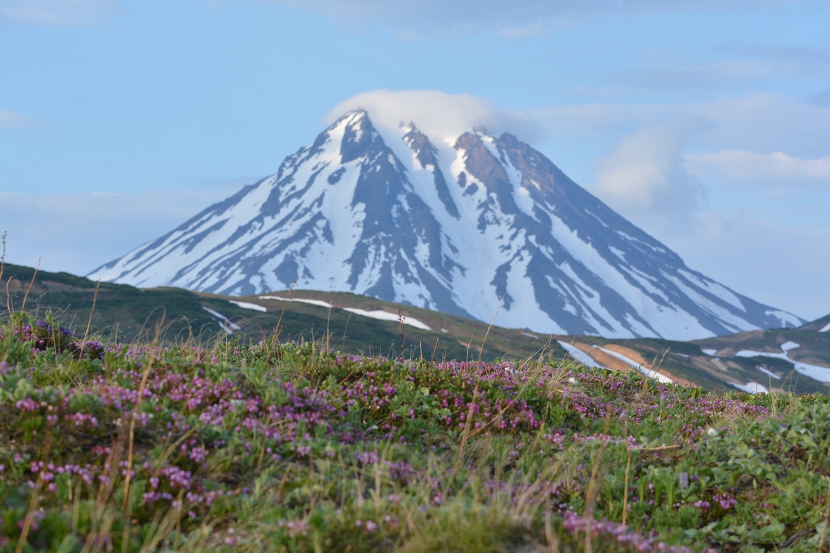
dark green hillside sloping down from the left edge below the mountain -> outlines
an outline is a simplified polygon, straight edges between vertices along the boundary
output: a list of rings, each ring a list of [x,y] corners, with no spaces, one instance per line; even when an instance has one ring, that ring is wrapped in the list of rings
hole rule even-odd
[[[32,268],[7,264],[3,281],[8,283],[0,291],[0,305],[8,305],[12,312],[23,307],[29,284],[35,271]],[[521,330],[492,327],[484,341],[488,325],[469,319],[437,313],[408,305],[382,302],[350,293],[320,293],[295,290],[292,298],[325,299],[334,308],[323,308],[309,303],[261,300],[258,297],[238,298],[209,293],[193,293],[183,289],[137,289],[126,284],[100,283],[95,298],[96,283],[68,273],[39,271],[26,298],[27,312],[51,308],[73,327],[85,327],[95,299],[92,327],[95,333],[121,342],[153,339],[155,328],[161,326],[164,343],[210,343],[227,339],[221,320],[205,308],[220,313],[230,323],[241,327],[233,338],[241,342],[259,342],[275,333],[280,324],[279,337],[283,341],[315,341],[328,336],[330,347],[345,352],[371,353],[396,357],[401,351],[401,330],[396,321],[381,321],[344,311],[344,307],[367,311],[383,309],[417,318],[432,328],[430,331],[403,325],[403,343],[406,357],[428,357],[437,360],[477,360],[481,343],[485,343],[481,359],[526,358],[540,355],[561,358],[566,354],[550,337],[523,334]],[[287,292],[271,295],[286,296]],[[266,295],[266,294],[260,294]],[[256,303],[266,308],[261,313],[240,308],[233,301]],[[494,310],[495,314],[495,310]],[[443,332],[442,331],[446,331]]]

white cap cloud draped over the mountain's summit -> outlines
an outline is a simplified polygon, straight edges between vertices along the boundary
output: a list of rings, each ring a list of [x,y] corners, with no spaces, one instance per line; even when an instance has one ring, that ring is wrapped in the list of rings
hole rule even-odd
[[[350,109],[363,108],[375,125],[398,127],[413,122],[428,136],[457,137],[465,131],[486,128],[500,134],[515,133],[525,141],[537,138],[540,124],[525,114],[510,113],[487,99],[437,90],[371,90],[340,102],[326,122],[331,123]]]

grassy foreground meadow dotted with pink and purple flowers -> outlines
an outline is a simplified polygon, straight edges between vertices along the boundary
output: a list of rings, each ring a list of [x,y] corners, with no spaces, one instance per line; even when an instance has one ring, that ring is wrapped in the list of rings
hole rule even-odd
[[[82,335],[0,324],[0,551],[830,549],[827,395]]]

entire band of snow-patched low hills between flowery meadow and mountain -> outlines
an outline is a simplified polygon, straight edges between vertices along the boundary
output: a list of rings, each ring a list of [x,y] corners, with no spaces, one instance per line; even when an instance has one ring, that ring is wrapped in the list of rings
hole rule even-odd
[[[12,277],[12,310],[21,307],[33,272],[6,265],[3,280]],[[90,279],[41,271],[27,299],[27,311],[52,308],[76,327],[85,327],[94,295],[95,282]],[[5,304],[2,289],[0,305]],[[129,342],[152,339],[156,324],[164,320],[166,342],[191,339],[207,344],[227,338],[259,341],[271,337],[279,323],[283,340],[319,340],[328,335],[330,347],[344,352],[398,356],[398,309],[404,316],[408,357],[478,359],[486,323],[344,292],[277,290],[240,297],[101,283],[92,321],[96,332],[117,333],[120,340]],[[496,322],[500,317],[501,313]],[[570,358],[612,370],[640,370],[664,381],[707,389],[826,393],[830,391],[830,332],[818,330],[827,323],[830,316],[797,329],[740,332],[694,342],[544,336],[494,325],[481,357]]]

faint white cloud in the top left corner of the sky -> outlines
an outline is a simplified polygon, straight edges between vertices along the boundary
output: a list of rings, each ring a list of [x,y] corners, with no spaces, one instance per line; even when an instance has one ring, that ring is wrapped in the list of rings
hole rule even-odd
[[[116,0],[0,0],[0,20],[27,25],[100,25],[123,11]]]

